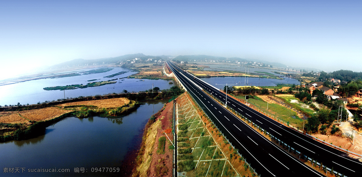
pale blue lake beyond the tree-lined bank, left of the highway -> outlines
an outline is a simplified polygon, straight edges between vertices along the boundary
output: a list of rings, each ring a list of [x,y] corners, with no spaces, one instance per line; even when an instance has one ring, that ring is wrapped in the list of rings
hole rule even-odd
[[[97,69],[97,68],[92,68]],[[67,73],[88,71],[92,69],[83,69],[83,70],[74,70],[67,71]],[[118,72],[126,71],[127,73],[117,75],[111,78],[104,78],[105,76],[115,74]],[[0,105],[4,106],[5,104],[37,104],[38,102],[52,101],[57,99],[75,98],[78,96],[94,96],[94,95],[104,95],[111,93],[122,93],[123,90],[129,92],[138,92],[152,89],[152,83],[154,87],[159,87],[161,90],[168,89],[172,86],[176,86],[174,81],[165,81],[162,79],[151,80],[151,79],[127,79],[129,75],[135,74],[137,72],[132,72],[132,70],[114,67],[113,70],[105,73],[96,73],[96,74],[86,74],[86,75],[77,75],[72,77],[63,77],[63,78],[47,78],[47,79],[38,79],[20,83],[14,83],[9,85],[0,86]],[[54,87],[54,86],[66,86],[66,85],[75,85],[83,84],[86,85],[89,83],[89,80],[99,79],[97,81],[108,81],[111,79],[117,79],[117,83],[98,86],[98,87],[88,87],[88,88],[77,88],[73,90],[43,90],[45,87]],[[123,79],[119,79],[123,78]],[[171,78],[170,78],[171,79]],[[173,84],[169,84],[173,82]]]

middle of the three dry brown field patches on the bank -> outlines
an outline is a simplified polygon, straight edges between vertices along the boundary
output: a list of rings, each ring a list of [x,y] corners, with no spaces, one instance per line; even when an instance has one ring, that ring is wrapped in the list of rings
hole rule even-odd
[[[59,117],[65,113],[72,112],[73,110],[59,109],[57,107],[47,107],[42,109],[32,109],[26,111],[20,111],[20,115],[34,121],[51,120],[55,117]]]

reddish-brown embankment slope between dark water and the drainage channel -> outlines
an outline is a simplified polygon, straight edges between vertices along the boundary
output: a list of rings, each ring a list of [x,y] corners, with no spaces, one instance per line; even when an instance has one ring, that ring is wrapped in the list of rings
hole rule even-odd
[[[132,176],[166,176],[173,174],[172,133],[173,103],[152,115],[146,124],[142,144],[133,167]]]

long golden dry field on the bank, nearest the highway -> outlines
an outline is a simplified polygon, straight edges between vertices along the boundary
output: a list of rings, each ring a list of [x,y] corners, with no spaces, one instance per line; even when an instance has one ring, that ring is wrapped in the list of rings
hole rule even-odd
[[[59,106],[72,106],[72,105],[93,105],[99,108],[114,108],[114,107],[121,107],[125,104],[129,104],[130,100],[127,98],[111,98],[111,99],[104,99],[104,100],[90,100],[90,101],[83,101],[83,102],[72,102],[72,103],[64,103],[60,104]]]

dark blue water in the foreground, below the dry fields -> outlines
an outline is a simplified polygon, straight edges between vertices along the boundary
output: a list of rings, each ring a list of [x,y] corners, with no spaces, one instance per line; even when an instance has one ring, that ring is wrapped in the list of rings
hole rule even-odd
[[[0,143],[0,168],[25,168],[24,173],[6,176],[122,176],[122,173],[91,172],[92,168],[119,168],[127,152],[138,149],[148,119],[168,100],[144,105],[121,118],[67,117],[46,128],[46,134],[23,141]],[[66,168],[69,173],[28,173],[28,169]],[[20,170],[21,172],[21,170]]]

